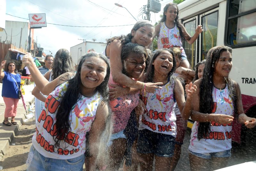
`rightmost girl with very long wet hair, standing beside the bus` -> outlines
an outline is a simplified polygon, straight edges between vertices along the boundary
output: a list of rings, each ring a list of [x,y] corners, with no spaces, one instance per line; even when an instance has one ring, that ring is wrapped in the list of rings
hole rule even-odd
[[[217,170],[225,167],[230,157],[232,121],[247,128],[256,119],[244,114],[238,83],[229,78],[232,48],[213,47],[207,53],[203,79],[194,82],[197,90],[192,98],[189,162],[192,171]]]

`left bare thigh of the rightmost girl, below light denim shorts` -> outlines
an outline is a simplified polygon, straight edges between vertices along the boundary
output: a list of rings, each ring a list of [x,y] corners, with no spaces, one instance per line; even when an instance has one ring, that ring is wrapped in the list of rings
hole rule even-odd
[[[189,163],[191,171],[205,171],[208,170],[211,165],[212,159],[204,159],[201,157],[197,157],[191,153],[189,153]],[[215,170],[215,169],[214,169]]]

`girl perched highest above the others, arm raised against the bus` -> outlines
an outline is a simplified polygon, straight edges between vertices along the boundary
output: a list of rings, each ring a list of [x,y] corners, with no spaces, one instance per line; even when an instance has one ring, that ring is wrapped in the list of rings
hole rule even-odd
[[[182,47],[182,40],[187,41],[189,44],[193,44],[196,41],[198,35],[202,33],[203,29],[201,25],[196,27],[195,34],[190,37],[185,27],[179,22],[179,8],[175,3],[166,4],[164,7],[163,17],[160,22],[155,26],[155,33],[153,39],[157,36],[157,47],[171,48],[178,47],[181,50],[180,66],[189,68],[190,65],[187,60],[187,56]]]

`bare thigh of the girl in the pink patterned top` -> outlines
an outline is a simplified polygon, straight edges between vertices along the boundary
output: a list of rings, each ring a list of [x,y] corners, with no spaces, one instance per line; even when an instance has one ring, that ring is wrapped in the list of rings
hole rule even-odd
[[[108,170],[111,170],[111,171],[118,170],[123,160],[125,150],[126,150],[125,138],[118,138],[113,140],[113,144],[109,147],[110,163],[108,165]]]

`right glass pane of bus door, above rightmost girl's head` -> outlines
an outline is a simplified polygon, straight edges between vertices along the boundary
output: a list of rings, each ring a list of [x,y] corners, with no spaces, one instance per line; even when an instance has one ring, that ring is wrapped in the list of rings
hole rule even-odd
[[[201,60],[204,60],[209,49],[217,45],[218,11],[202,16],[201,21],[204,29]]]

